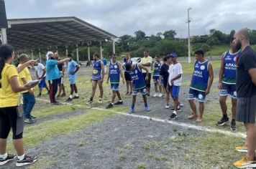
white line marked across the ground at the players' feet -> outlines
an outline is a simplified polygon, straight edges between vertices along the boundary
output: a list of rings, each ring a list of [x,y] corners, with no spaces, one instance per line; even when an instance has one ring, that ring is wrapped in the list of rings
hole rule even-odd
[[[49,100],[42,100],[42,99],[37,99],[37,100],[50,102]],[[60,103],[62,103],[63,105],[74,105],[74,104],[68,103],[68,102],[60,102]],[[81,107],[81,105],[76,105],[76,106]],[[90,108],[90,107],[88,107],[88,108]],[[105,109],[102,109],[102,108],[99,108],[99,107],[91,107],[91,109],[92,110],[105,110]],[[225,131],[225,130],[215,129],[215,128],[212,128],[212,127],[204,127],[204,126],[188,124],[188,123],[185,123],[185,122],[175,122],[175,121],[157,119],[157,118],[148,117],[148,116],[145,116],[145,115],[134,115],[134,114],[126,113],[126,112],[114,112],[114,113],[119,114],[119,115],[127,115],[127,116],[130,116],[130,117],[137,117],[137,118],[147,119],[147,120],[154,120],[156,122],[165,122],[165,123],[168,123],[168,124],[171,124],[171,125],[177,125],[177,126],[180,126],[180,127],[191,128],[191,129],[194,129],[194,130],[199,130],[199,131],[204,131],[204,132],[220,133],[220,134],[223,134],[223,135],[229,135],[229,136],[233,136],[233,137],[242,137],[242,138],[247,137],[247,135],[245,135],[243,132],[229,132],[229,131]]]

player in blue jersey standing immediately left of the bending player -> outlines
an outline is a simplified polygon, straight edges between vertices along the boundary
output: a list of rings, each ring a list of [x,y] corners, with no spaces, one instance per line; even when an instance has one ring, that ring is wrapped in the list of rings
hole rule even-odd
[[[111,97],[111,102],[109,103],[109,105],[106,106],[106,109],[113,107],[113,105],[123,104],[123,100],[119,92],[120,75],[122,77],[122,83],[124,84],[124,74],[122,72],[122,65],[120,62],[116,60],[116,54],[112,54],[111,62],[109,63],[109,74],[106,80],[106,83],[109,83],[109,79],[110,79],[112,97]],[[119,101],[114,103],[114,99],[116,95]]]

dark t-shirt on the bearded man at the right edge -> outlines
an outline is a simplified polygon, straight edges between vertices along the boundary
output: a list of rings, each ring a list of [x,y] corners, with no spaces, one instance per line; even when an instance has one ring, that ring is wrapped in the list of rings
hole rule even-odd
[[[256,86],[248,72],[252,68],[256,68],[256,52],[248,46],[242,51],[237,62],[237,97],[256,95]]]

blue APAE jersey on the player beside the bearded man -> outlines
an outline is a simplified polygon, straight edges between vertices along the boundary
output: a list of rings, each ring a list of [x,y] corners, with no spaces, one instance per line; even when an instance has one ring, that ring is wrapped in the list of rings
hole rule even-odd
[[[232,54],[231,52],[226,52],[224,55],[224,74],[222,82],[226,84],[236,84],[236,74],[237,65],[235,60],[239,57],[239,53]]]

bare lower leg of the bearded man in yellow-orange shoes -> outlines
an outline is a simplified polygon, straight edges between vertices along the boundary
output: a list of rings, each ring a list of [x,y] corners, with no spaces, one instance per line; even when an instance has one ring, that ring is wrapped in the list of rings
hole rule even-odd
[[[247,130],[247,157],[250,160],[255,160],[256,149],[256,125],[255,123],[244,123]]]

